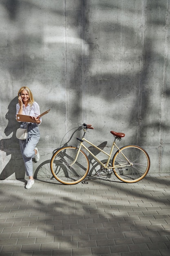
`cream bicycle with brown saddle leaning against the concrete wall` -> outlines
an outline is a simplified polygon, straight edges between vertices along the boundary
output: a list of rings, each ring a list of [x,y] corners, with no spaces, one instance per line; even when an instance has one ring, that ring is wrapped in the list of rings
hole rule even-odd
[[[77,137],[79,144],[75,146],[64,146],[57,150],[51,158],[50,168],[55,179],[63,184],[77,184],[87,176],[90,164],[84,148],[100,164],[101,168],[97,171],[97,176],[112,175],[126,183],[134,183],[142,180],[149,171],[150,158],[148,153],[140,146],[127,145],[119,148],[115,141],[121,140],[125,136],[122,132],[110,131],[115,137],[110,153],[95,146],[85,138],[87,129],[94,129],[90,124],[82,124],[84,134],[80,139]],[[95,156],[84,142],[90,144],[97,150],[108,156],[107,162],[103,163]],[[117,148],[113,156],[112,163],[110,158],[113,154],[114,147]]]

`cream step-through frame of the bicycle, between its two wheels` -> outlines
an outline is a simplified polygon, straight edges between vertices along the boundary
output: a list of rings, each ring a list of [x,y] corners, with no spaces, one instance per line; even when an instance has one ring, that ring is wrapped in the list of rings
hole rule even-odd
[[[86,131],[85,131],[85,132],[86,132]],[[84,134],[85,134],[85,132],[84,132]],[[121,152],[121,149],[119,149],[119,147],[116,145],[116,143],[115,143],[115,140],[117,139],[116,137],[115,137],[115,140],[113,141],[113,145],[112,145],[112,147],[111,147],[110,154],[106,153],[106,152],[105,152],[104,150],[102,150],[101,148],[95,146],[93,143],[91,143],[90,141],[88,141],[87,139],[85,139],[84,136],[82,137],[82,139],[79,139],[79,138],[77,138],[77,139],[78,139],[79,141],[81,141],[81,142],[80,142],[79,146],[77,146],[77,154],[76,154],[76,157],[75,157],[73,163],[70,164],[70,166],[72,166],[72,165],[76,162],[77,157],[78,157],[79,152],[80,152],[80,150],[81,150],[82,147],[83,147],[84,149],[86,149],[86,150],[88,151],[88,153],[89,153],[90,155],[92,155],[92,156],[95,158],[95,160],[96,160],[99,164],[101,164],[105,169],[111,169],[111,168],[115,168],[115,167],[126,167],[127,165],[128,165],[128,166],[132,166],[132,165],[133,165],[133,164],[129,161],[129,159]],[[105,155],[108,156],[108,159],[107,159],[106,164],[103,164],[103,163],[91,152],[91,150],[89,150],[89,149],[83,144],[84,141],[87,142],[88,144],[90,144],[91,146],[93,146],[94,148],[98,149],[100,152],[102,152],[102,153],[104,153]],[[128,164],[117,164],[117,165],[115,165],[115,166],[109,166],[109,167],[108,167],[108,164],[109,164],[109,162],[110,162],[110,158],[111,158],[112,153],[113,153],[114,146],[117,148],[117,150],[119,150],[119,152],[121,152],[121,154],[122,154],[122,155],[124,156],[124,158],[127,160]]]

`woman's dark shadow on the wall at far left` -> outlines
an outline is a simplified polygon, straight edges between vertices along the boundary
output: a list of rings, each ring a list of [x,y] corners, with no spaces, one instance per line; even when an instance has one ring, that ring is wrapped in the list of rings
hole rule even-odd
[[[0,150],[6,153],[6,156],[11,155],[9,162],[6,164],[0,173],[0,180],[5,180],[10,177],[13,173],[17,180],[24,180],[25,168],[20,153],[20,146],[18,139],[15,137],[16,130],[19,128],[18,122],[15,119],[16,116],[16,104],[18,103],[18,97],[15,97],[8,106],[8,112],[5,118],[8,120],[7,127],[4,130],[4,134],[10,138],[0,140]],[[8,157],[7,157],[8,158]],[[6,159],[6,157],[5,157]]]

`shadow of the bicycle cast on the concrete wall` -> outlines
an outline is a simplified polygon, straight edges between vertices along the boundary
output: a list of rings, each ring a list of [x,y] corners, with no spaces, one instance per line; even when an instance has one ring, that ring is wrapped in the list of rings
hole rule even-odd
[[[55,150],[53,150],[53,154],[59,150],[60,148],[64,147],[64,146],[70,146],[72,144],[72,139],[73,141],[75,142],[75,137],[81,137],[80,136],[80,132],[82,130],[82,127],[75,127],[73,128],[75,129],[72,134],[69,136],[69,139],[64,143],[62,144],[62,141],[64,140],[64,137],[66,135],[68,135],[68,132],[64,135],[62,141],[61,141],[61,144],[58,148],[55,148]],[[73,130],[71,129],[71,130]],[[70,131],[69,131],[70,132]],[[76,135],[76,136],[75,136]],[[78,135],[78,136],[77,136]],[[71,143],[71,144],[70,144]],[[73,145],[73,144],[72,144]],[[101,144],[98,145],[98,148],[104,150],[104,148],[106,147],[107,145],[107,141],[104,141],[102,142]],[[89,146],[88,147],[89,150],[91,150],[91,152],[93,153],[93,155],[97,156],[100,151],[97,150],[97,148],[94,148],[93,146]],[[87,153],[87,152],[85,152]],[[53,156],[52,154],[52,156]],[[97,171],[99,171],[99,169],[101,168],[100,164],[97,163],[97,161],[90,155],[88,154],[88,159],[89,159],[89,164],[90,164],[90,171],[88,173],[88,175],[86,176],[86,178],[84,179],[84,182],[86,182],[86,180],[94,180],[94,179],[97,179],[97,180],[108,180],[107,178],[110,178],[110,175],[107,177],[107,176],[96,176],[96,173]],[[35,170],[35,173],[34,173],[34,179],[35,180],[39,180],[39,181],[43,181],[43,182],[47,182],[47,183],[54,183],[54,184],[61,184],[60,182],[58,182],[55,177],[53,176],[53,174],[51,173],[51,169],[50,169],[50,162],[51,162],[51,159],[47,159],[46,161],[42,162],[38,167],[37,169]],[[107,162],[107,159],[103,159],[101,162],[104,162],[106,163]],[[111,180],[110,180],[111,181]]]

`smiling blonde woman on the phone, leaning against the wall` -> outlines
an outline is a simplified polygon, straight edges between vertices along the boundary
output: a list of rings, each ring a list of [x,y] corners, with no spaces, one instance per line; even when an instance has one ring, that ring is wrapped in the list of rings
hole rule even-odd
[[[20,128],[26,129],[28,136],[26,140],[19,139],[21,154],[24,160],[24,166],[26,175],[29,176],[29,180],[25,186],[26,189],[30,189],[34,184],[33,179],[33,161],[38,162],[40,155],[36,145],[40,139],[40,131],[38,125],[41,124],[40,107],[33,99],[31,90],[23,86],[18,92],[18,103],[16,105],[16,114],[29,115],[35,123],[22,123]]]

